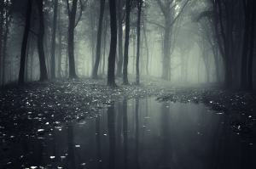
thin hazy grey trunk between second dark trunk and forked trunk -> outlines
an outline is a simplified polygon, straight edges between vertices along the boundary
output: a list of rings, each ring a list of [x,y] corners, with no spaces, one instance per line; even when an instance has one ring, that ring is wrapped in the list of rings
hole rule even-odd
[[[51,39],[51,66],[50,66],[50,76],[55,79],[55,37],[56,37],[56,23],[57,23],[57,11],[58,11],[58,0],[55,0],[54,16],[53,16],[53,30]]]

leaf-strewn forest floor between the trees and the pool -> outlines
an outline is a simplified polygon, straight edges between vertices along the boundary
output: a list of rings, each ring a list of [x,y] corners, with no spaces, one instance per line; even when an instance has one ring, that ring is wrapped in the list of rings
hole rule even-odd
[[[135,76],[129,76],[130,82]],[[49,132],[51,128],[96,116],[104,104],[122,99],[156,97],[158,101],[206,104],[231,118],[235,132],[256,143],[256,93],[227,90],[217,84],[177,85],[152,76],[140,84],[108,87],[107,79],[79,78],[9,84],[0,89],[1,149]],[[247,122],[243,122],[243,119]]]

